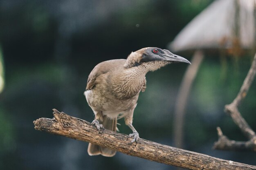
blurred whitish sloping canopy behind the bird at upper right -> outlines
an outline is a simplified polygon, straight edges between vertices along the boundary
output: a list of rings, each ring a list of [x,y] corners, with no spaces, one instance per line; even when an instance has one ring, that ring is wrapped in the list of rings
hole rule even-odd
[[[215,0],[169,44],[172,51],[252,49],[256,38],[256,0]]]

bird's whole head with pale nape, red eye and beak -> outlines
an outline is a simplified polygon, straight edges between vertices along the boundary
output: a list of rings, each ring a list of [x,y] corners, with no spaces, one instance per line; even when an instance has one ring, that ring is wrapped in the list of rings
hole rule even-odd
[[[191,64],[189,60],[175,55],[166,49],[156,47],[146,47],[138,51],[132,52],[127,57],[126,67],[145,66],[148,71],[155,71],[167,64],[184,62]]]

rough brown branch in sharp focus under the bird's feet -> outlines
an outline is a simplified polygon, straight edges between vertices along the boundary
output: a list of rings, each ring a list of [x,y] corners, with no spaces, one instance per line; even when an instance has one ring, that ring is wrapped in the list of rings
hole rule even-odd
[[[91,142],[127,155],[191,170],[256,170],[256,166],[210,157],[145,139],[139,139],[136,144],[129,145],[130,141],[127,140],[127,135],[107,129],[99,133],[95,126],[85,120],[71,117],[63,112],[60,113],[56,109],[53,114],[53,119],[40,118],[34,121],[35,129]]]

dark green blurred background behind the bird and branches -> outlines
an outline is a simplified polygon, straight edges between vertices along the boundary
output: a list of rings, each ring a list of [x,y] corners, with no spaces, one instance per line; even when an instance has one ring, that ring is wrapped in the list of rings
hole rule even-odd
[[[119,152],[90,157],[88,143],[34,130],[33,121],[52,118],[56,108],[91,122],[94,115],[83,92],[95,65],[147,46],[170,49],[175,36],[212,2],[0,0],[0,169],[174,170]],[[184,149],[256,165],[255,152],[212,150],[217,126],[230,139],[247,140],[223,109],[245,79],[252,51],[204,53],[186,104]],[[191,49],[177,54],[193,56]],[[187,67],[172,64],[147,74],[133,121],[141,138],[174,146],[175,103]],[[256,81],[239,107],[253,130],[255,87]],[[119,123],[121,133],[131,133],[123,119]]]

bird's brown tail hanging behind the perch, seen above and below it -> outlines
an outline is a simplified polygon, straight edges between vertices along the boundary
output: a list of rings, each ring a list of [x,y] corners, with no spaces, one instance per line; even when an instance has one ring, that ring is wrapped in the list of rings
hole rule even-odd
[[[114,132],[117,131],[117,118],[109,119],[108,117],[103,116],[103,121],[99,121],[99,123],[102,124],[105,129],[112,130]],[[87,151],[90,156],[103,155],[105,157],[113,157],[117,152],[115,150],[95,145],[92,143],[89,143]]]

